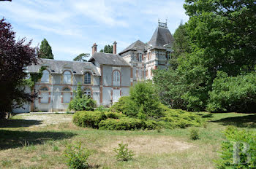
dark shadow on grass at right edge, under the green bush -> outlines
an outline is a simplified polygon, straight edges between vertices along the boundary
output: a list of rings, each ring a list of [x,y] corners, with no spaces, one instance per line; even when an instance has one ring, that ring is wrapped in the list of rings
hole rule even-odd
[[[223,119],[213,120],[221,125],[234,125],[236,127],[256,128],[256,114],[243,117],[227,117]]]

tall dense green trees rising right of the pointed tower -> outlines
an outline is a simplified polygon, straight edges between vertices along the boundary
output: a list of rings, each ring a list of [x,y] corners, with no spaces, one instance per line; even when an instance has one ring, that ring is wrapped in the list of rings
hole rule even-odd
[[[186,0],[184,8],[189,21],[180,25],[174,34],[174,60],[170,61],[167,71],[157,71],[154,80],[162,87],[160,93],[165,95],[162,98],[165,103],[201,111],[213,101],[211,91],[213,85],[217,85],[214,82],[219,82],[214,81],[219,72],[239,76],[255,71],[256,3],[252,0]],[[240,78],[233,80],[241,81]],[[230,100],[229,104],[235,102]],[[211,104],[211,107],[214,106]]]

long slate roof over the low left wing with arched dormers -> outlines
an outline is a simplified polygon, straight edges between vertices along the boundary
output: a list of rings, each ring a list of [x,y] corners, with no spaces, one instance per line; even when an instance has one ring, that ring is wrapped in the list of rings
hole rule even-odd
[[[53,59],[39,59],[39,64],[28,66],[27,72],[33,74],[38,73],[41,66],[46,66],[51,74],[62,74],[65,69],[71,69],[72,74],[84,74],[85,70],[93,71],[100,76],[96,66],[91,62],[64,61]]]

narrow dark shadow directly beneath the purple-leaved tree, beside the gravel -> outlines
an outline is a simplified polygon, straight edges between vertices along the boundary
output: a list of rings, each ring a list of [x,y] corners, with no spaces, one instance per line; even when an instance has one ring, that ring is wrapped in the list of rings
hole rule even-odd
[[[31,119],[1,119],[0,128],[6,127],[29,127],[31,125],[40,125],[42,121]]]

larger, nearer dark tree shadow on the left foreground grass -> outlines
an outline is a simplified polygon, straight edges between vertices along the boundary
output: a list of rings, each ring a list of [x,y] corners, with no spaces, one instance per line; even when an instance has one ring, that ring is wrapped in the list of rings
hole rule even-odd
[[[0,130],[0,150],[14,149],[24,145],[44,144],[45,141],[61,140],[75,136],[70,132]]]

